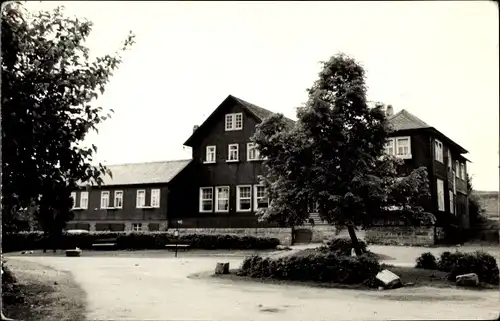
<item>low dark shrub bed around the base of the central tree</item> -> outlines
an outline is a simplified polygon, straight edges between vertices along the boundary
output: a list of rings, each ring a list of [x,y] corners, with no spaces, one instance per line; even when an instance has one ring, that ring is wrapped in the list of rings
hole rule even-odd
[[[379,271],[378,261],[366,255],[351,257],[317,252],[279,259],[248,257],[238,274],[254,278],[361,284]]]

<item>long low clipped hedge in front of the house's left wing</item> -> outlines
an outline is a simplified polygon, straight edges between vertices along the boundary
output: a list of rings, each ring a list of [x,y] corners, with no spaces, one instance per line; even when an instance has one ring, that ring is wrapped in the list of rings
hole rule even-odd
[[[116,249],[142,250],[164,249],[165,244],[174,244],[176,237],[168,232],[90,232],[86,234],[66,234],[57,240],[58,249],[91,249],[98,239],[116,238]],[[195,249],[274,249],[280,241],[277,238],[238,236],[238,235],[208,235],[185,234],[179,237],[179,243],[190,244]],[[43,249],[43,232],[21,232],[4,234],[3,251],[23,251]],[[51,249],[49,245],[47,249]]]

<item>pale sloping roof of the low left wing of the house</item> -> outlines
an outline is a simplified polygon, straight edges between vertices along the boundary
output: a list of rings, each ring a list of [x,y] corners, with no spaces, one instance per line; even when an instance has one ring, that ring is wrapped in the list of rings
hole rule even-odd
[[[103,177],[103,185],[136,185],[168,183],[189,163],[190,159],[107,165],[113,178]]]

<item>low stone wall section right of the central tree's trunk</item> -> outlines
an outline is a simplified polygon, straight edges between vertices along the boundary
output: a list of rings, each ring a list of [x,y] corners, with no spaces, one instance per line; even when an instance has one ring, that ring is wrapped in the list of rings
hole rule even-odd
[[[365,241],[385,245],[434,245],[433,226],[372,226]]]

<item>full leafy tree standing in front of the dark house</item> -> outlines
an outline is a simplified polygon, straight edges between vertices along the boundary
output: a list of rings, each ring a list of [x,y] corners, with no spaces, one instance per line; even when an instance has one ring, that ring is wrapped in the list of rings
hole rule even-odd
[[[303,224],[311,201],[317,202],[323,220],[347,227],[358,255],[356,226],[387,213],[414,224],[433,221],[419,205],[429,197],[426,168],[405,176],[402,161],[384,155],[391,129],[384,106],[368,106],[363,68],[343,54],[333,56],[308,93],[294,126],[276,114],[253,137],[266,159],[261,181],[269,193],[260,219]]]

